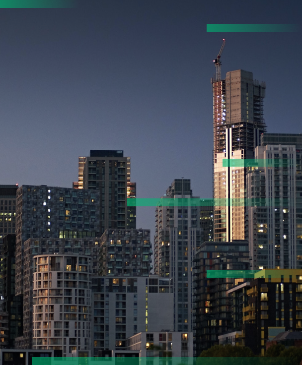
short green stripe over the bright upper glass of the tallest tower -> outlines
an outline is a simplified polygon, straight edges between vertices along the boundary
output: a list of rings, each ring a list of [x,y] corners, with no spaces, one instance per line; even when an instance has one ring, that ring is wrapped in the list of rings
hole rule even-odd
[[[223,167],[282,167],[287,166],[287,159],[282,158],[224,158]]]

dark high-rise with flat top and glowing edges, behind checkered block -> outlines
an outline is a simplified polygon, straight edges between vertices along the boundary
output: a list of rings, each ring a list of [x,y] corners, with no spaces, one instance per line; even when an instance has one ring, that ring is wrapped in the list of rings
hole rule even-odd
[[[100,235],[106,229],[135,229],[136,207],[127,207],[127,199],[136,197],[130,157],[124,151],[90,150],[89,157],[78,161],[78,183],[73,186],[100,192]]]

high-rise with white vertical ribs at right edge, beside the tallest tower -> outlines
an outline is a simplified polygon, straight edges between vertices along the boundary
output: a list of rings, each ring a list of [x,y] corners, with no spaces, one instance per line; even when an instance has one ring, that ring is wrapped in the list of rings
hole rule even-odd
[[[253,268],[302,268],[302,134],[265,133],[247,174]],[[259,164],[260,165],[260,164]]]

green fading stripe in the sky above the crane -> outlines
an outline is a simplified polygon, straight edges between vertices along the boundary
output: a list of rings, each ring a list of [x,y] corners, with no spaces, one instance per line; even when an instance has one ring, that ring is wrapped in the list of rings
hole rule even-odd
[[[297,32],[298,24],[207,24],[207,32]]]

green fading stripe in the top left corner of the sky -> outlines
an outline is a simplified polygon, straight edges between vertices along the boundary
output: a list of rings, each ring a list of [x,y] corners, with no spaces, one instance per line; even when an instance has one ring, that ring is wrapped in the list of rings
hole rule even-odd
[[[67,8],[77,3],[77,0],[0,0],[0,8]]]

